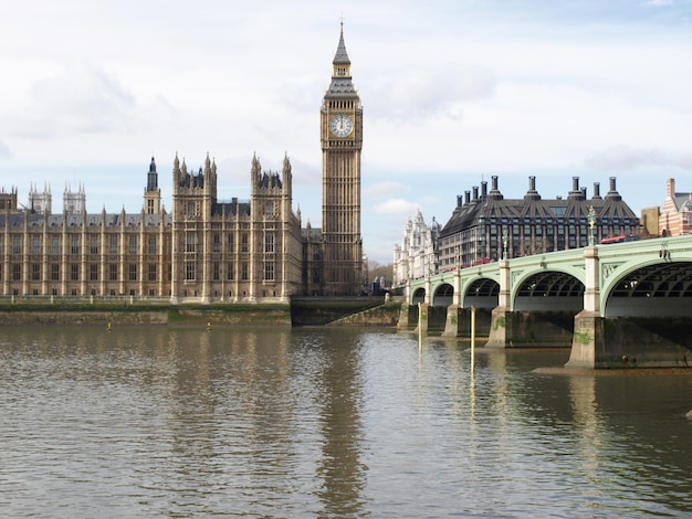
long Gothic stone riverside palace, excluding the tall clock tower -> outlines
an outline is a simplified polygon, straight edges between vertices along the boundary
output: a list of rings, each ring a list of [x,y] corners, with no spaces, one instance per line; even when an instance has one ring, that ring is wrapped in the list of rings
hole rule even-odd
[[[140,213],[0,213],[0,294],[281,303],[301,292],[287,157],[281,176],[253,158],[249,202],[217,200],[209,158],[191,173],[176,157],[172,176],[170,214],[160,209],[154,159]]]

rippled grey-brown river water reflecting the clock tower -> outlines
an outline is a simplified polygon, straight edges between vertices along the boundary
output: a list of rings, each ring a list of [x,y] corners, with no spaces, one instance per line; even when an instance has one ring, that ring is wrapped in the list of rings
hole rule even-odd
[[[343,328],[3,328],[3,517],[692,515],[692,375]]]

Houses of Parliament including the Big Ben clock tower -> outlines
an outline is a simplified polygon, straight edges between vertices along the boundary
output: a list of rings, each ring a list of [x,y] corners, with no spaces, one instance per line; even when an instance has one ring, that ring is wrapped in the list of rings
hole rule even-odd
[[[139,213],[86,212],[65,189],[53,214],[50,189],[0,192],[0,296],[134,296],[172,303],[286,303],[291,296],[358,295],[363,287],[360,151],[363,108],[339,34],[321,106],[322,229],[292,208],[293,172],[250,165],[250,200],[217,198],[217,165],[172,162],[172,210],[161,206],[151,159]],[[145,169],[145,168],[143,168]]]

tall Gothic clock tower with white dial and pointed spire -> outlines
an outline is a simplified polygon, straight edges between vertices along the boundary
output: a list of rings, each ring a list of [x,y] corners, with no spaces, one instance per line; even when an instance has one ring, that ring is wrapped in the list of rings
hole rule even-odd
[[[361,288],[360,150],[363,107],[350,76],[344,23],[332,62],[332,83],[321,109],[322,240],[325,295]]]

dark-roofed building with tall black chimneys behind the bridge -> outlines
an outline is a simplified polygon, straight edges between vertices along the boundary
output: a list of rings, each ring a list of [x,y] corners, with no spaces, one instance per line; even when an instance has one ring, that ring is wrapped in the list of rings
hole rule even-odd
[[[440,271],[450,271],[499,258],[563,251],[588,245],[589,210],[594,209],[596,243],[609,236],[639,232],[639,219],[625,203],[610,178],[609,190],[600,195],[599,183],[587,198],[586,188],[573,178],[567,198],[543,199],[535,177],[521,199],[505,199],[497,177],[481,182],[457,198],[457,206],[440,231]]]

